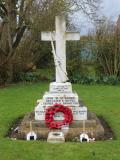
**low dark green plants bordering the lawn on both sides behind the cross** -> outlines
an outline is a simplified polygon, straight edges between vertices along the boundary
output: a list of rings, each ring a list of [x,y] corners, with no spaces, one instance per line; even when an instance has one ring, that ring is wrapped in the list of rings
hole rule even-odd
[[[54,81],[54,76],[48,74],[40,74],[37,72],[28,72],[19,74],[19,81],[25,82],[39,82],[39,81]],[[70,77],[70,82],[78,84],[104,84],[104,85],[119,85],[120,79],[116,76],[90,76],[90,75],[72,75]],[[18,80],[17,80],[18,81]]]

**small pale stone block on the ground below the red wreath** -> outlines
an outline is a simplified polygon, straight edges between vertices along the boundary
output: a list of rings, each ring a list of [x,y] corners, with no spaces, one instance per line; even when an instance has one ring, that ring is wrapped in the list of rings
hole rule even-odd
[[[63,143],[65,142],[65,137],[63,132],[50,132],[48,134],[47,142],[49,143]]]

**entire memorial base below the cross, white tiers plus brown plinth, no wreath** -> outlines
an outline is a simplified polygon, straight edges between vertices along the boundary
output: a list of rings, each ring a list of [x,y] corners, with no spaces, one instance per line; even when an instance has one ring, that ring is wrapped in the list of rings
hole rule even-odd
[[[72,110],[73,121],[59,129],[50,129],[46,126],[45,113],[49,107],[55,104],[63,104]],[[64,121],[64,114],[56,112],[54,121]],[[32,130],[36,133],[37,139],[46,139],[51,143],[72,141],[84,132],[90,138],[101,139],[104,137],[104,128],[95,114],[88,112],[87,107],[79,101],[77,93],[72,91],[71,83],[51,83],[49,92],[43,95],[43,99],[37,101],[35,112],[26,115],[20,124],[18,138],[23,139]],[[68,126],[67,126],[68,125]],[[59,132],[58,135],[55,132]]]

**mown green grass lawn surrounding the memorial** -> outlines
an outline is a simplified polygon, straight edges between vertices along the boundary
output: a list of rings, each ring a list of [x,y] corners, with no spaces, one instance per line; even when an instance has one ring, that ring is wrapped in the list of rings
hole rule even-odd
[[[120,86],[73,85],[89,109],[102,115],[116,140],[95,143],[48,144],[12,141],[5,134],[12,121],[34,109],[48,83],[16,85],[0,89],[0,160],[120,160]]]

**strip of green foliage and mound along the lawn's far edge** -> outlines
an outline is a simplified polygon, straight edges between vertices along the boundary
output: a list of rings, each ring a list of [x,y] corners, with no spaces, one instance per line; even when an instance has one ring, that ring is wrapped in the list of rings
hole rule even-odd
[[[88,74],[80,74],[80,72],[72,72],[68,74],[69,81],[72,83],[86,84],[86,85],[94,85],[94,84],[102,84],[102,85],[120,85],[120,79],[116,76],[96,76],[96,75],[88,75]],[[39,81],[54,81],[54,70],[53,69],[39,69],[36,72],[26,72],[16,74],[14,82],[39,82]]]

